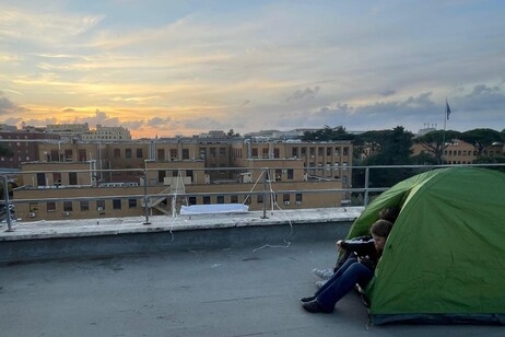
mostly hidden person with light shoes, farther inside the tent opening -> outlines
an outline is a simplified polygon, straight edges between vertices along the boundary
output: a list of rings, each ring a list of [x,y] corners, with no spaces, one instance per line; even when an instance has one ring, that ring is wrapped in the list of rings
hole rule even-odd
[[[391,223],[395,223],[395,221],[398,218],[398,214],[400,213],[400,208],[392,206],[392,207],[386,207],[381,209],[378,213],[379,219],[387,220]],[[353,237],[350,241],[352,242],[366,242],[372,239],[371,235],[365,235],[365,236],[357,236]],[[336,272],[339,270],[340,267],[348,260],[348,258],[351,256],[352,252],[345,249],[341,245],[341,240],[337,241],[336,246],[338,251],[338,257],[337,257],[337,264],[333,268],[331,269],[318,269],[314,268],[313,272],[320,278],[320,280],[316,281],[316,287],[319,289],[321,288]]]

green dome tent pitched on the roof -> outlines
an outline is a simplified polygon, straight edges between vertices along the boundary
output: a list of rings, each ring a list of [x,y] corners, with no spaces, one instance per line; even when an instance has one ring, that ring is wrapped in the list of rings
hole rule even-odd
[[[419,174],[371,202],[349,237],[367,234],[388,206],[401,211],[365,290],[372,323],[505,324],[505,174]]]

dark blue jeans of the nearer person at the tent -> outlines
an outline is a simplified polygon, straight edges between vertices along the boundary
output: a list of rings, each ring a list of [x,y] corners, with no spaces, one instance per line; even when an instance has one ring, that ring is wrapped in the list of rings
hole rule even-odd
[[[316,292],[316,301],[328,311],[333,311],[334,304],[350,292],[356,283],[364,288],[374,272],[356,258],[349,258],[342,267]]]

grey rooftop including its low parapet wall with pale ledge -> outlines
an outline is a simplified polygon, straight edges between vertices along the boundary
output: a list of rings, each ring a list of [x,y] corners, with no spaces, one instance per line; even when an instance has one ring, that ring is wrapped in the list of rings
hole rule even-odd
[[[2,336],[503,335],[500,326],[368,327],[355,293],[333,314],[306,313],[298,299],[316,290],[312,269],[334,264],[334,241],[361,210],[34,222],[14,232],[3,223]],[[125,245],[139,249],[122,254]],[[16,262],[13,247],[33,258]],[[45,255],[79,253],[70,247],[81,255]]]

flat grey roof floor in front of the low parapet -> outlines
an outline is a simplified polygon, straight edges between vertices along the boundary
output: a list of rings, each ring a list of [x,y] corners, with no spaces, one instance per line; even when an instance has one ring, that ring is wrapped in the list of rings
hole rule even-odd
[[[190,248],[0,266],[0,330],[19,336],[503,336],[502,326],[367,329],[355,293],[332,314],[306,313],[314,267],[334,240],[284,247]]]

